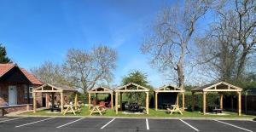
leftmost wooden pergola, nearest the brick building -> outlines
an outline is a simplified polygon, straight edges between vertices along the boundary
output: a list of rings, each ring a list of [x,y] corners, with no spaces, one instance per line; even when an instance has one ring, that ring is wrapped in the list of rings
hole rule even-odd
[[[36,89],[33,89],[32,91],[32,95],[33,95],[33,112],[37,112],[37,99],[36,99],[36,95],[37,93],[46,93],[46,94],[51,94],[51,97],[52,97],[52,102],[51,104],[54,105],[55,104],[55,95],[60,95],[60,98],[61,98],[61,113],[63,112],[63,94],[67,94],[67,93],[73,93],[73,92],[77,92],[76,89],[73,89],[69,86],[66,86],[66,85],[52,85],[52,84],[49,84],[49,83],[46,83]],[[77,106],[77,99],[78,96],[76,95],[75,96],[75,106]],[[46,99],[48,100],[48,99]]]

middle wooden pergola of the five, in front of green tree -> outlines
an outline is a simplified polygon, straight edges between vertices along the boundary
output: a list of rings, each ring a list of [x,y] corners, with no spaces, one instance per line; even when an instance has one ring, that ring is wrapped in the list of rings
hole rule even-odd
[[[115,89],[115,113],[118,114],[118,105],[119,105],[119,97],[120,94],[120,109],[122,110],[122,94],[123,93],[129,93],[129,92],[145,92],[146,93],[146,112],[148,114],[148,93],[149,89],[138,85],[137,83],[128,83],[124,86],[120,86],[119,88]]]

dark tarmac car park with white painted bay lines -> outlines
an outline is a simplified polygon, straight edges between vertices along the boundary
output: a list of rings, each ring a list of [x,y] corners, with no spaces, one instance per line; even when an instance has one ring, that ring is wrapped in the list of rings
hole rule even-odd
[[[33,118],[2,117],[1,132],[81,132],[81,131],[218,131],[253,132],[256,122],[250,120],[199,120],[149,118]]]

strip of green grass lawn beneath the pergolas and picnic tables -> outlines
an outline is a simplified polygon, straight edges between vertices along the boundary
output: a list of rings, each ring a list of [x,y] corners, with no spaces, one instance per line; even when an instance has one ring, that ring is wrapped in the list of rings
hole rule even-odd
[[[183,112],[183,115],[178,113],[173,113],[172,115],[167,114],[165,111],[154,111],[154,109],[149,109],[149,114],[124,114],[119,112],[115,114],[113,110],[108,110],[102,116],[104,117],[161,117],[161,118],[256,118],[256,116],[241,114],[239,117],[236,112],[224,112],[227,115],[202,115],[201,112]],[[33,116],[63,116],[61,113],[51,113],[49,110],[38,111],[37,113],[26,112],[21,115],[33,115]],[[74,116],[72,113],[66,114],[67,116]],[[78,112],[76,116],[89,116],[90,112],[88,111],[87,106],[82,109],[81,112]],[[93,114],[93,116],[100,116],[99,114]]]

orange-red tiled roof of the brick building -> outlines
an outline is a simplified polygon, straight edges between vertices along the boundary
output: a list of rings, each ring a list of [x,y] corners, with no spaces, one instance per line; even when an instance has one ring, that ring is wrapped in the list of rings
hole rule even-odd
[[[0,64],[0,77],[2,77],[5,73],[9,72],[12,68],[14,68],[15,64]],[[20,68],[19,66],[17,66]],[[40,82],[37,77],[33,76],[31,73],[27,72],[24,68],[20,68],[20,71],[26,76],[26,78],[32,84],[43,85],[44,83]]]

